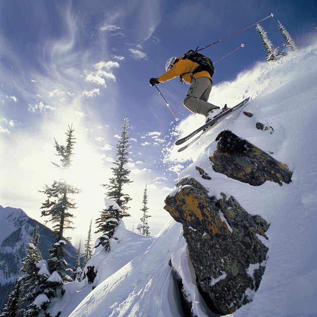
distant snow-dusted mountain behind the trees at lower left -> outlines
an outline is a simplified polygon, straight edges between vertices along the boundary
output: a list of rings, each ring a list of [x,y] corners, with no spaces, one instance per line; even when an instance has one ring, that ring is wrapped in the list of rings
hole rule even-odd
[[[0,310],[7,302],[19,274],[21,260],[26,256],[26,244],[34,228],[38,226],[41,240],[39,249],[44,259],[49,258],[48,250],[54,243],[53,231],[31,219],[19,208],[0,206]],[[73,267],[76,249],[68,242],[66,261]]]

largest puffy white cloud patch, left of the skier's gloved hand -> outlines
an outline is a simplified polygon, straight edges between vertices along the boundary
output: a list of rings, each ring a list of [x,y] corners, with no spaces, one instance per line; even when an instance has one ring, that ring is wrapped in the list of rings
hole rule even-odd
[[[96,83],[101,86],[106,86],[105,79],[112,79],[115,82],[115,76],[111,72],[112,68],[120,67],[117,62],[114,61],[100,61],[93,65],[96,69],[91,71],[86,76],[86,81]]]

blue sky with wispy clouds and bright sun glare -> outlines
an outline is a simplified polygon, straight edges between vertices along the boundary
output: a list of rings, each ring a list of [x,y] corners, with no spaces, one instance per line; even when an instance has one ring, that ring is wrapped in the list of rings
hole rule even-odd
[[[56,161],[54,137],[63,143],[72,123],[77,137],[72,179],[84,188],[75,225],[85,231],[104,206],[99,184],[111,176],[116,136],[127,115],[134,180],[134,216],[127,224],[131,228],[139,223],[147,183],[150,227],[157,233],[169,217],[164,197],[175,184],[175,172],[190,157],[187,162],[166,160],[175,121],[149,78],[165,71],[169,57],[216,42],[271,12],[274,17],[261,25],[272,43],[284,43],[279,20],[296,44],[305,46],[315,32],[316,9],[313,0],[2,0],[0,173],[5,182],[0,204],[44,221],[39,207],[45,197],[38,190],[56,178],[51,164]],[[202,51],[215,61],[242,43],[244,48],[216,65],[214,85],[232,81],[264,60],[264,49],[252,27]],[[179,118],[190,115],[182,106],[186,85],[175,79],[159,88]],[[213,97],[212,92],[211,102]]]

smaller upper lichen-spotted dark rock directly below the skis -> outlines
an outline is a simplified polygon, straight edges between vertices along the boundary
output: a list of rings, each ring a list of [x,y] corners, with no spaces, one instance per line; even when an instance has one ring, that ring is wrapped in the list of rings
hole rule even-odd
[[[253,186],[265,181],[290,183],[292,172],[258,147],[231,131],[222,131],[216,138],[217,149],[210,157],[215,172]]]

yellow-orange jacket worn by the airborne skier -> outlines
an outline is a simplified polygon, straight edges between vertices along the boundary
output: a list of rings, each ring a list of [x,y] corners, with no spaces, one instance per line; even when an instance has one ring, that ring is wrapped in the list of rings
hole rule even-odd
[[[165,82],[170,81],[171,79],[173,79],[175,77],[180,76],[181,74],[184,74],[182,76],[184,82],[186,82],[187,84],[191,84],[192,77],[191,77],[190,72],[192,72],[194,69],[196,69],[199,66],[199,64],[192,62],[189,59],[183,59],[183,57],[179,57],[178,59],[179,59],[179,61],[177,63],[175,63],[175,65],[170,69],[170,71],[164,73],[159,78],[157,78],[157,80],[160,83],[165,83]],[[196,72],[193,77],[194,78],[208,77],[212,83],[211,76],[210,76],[209,72],[206,70]]]

